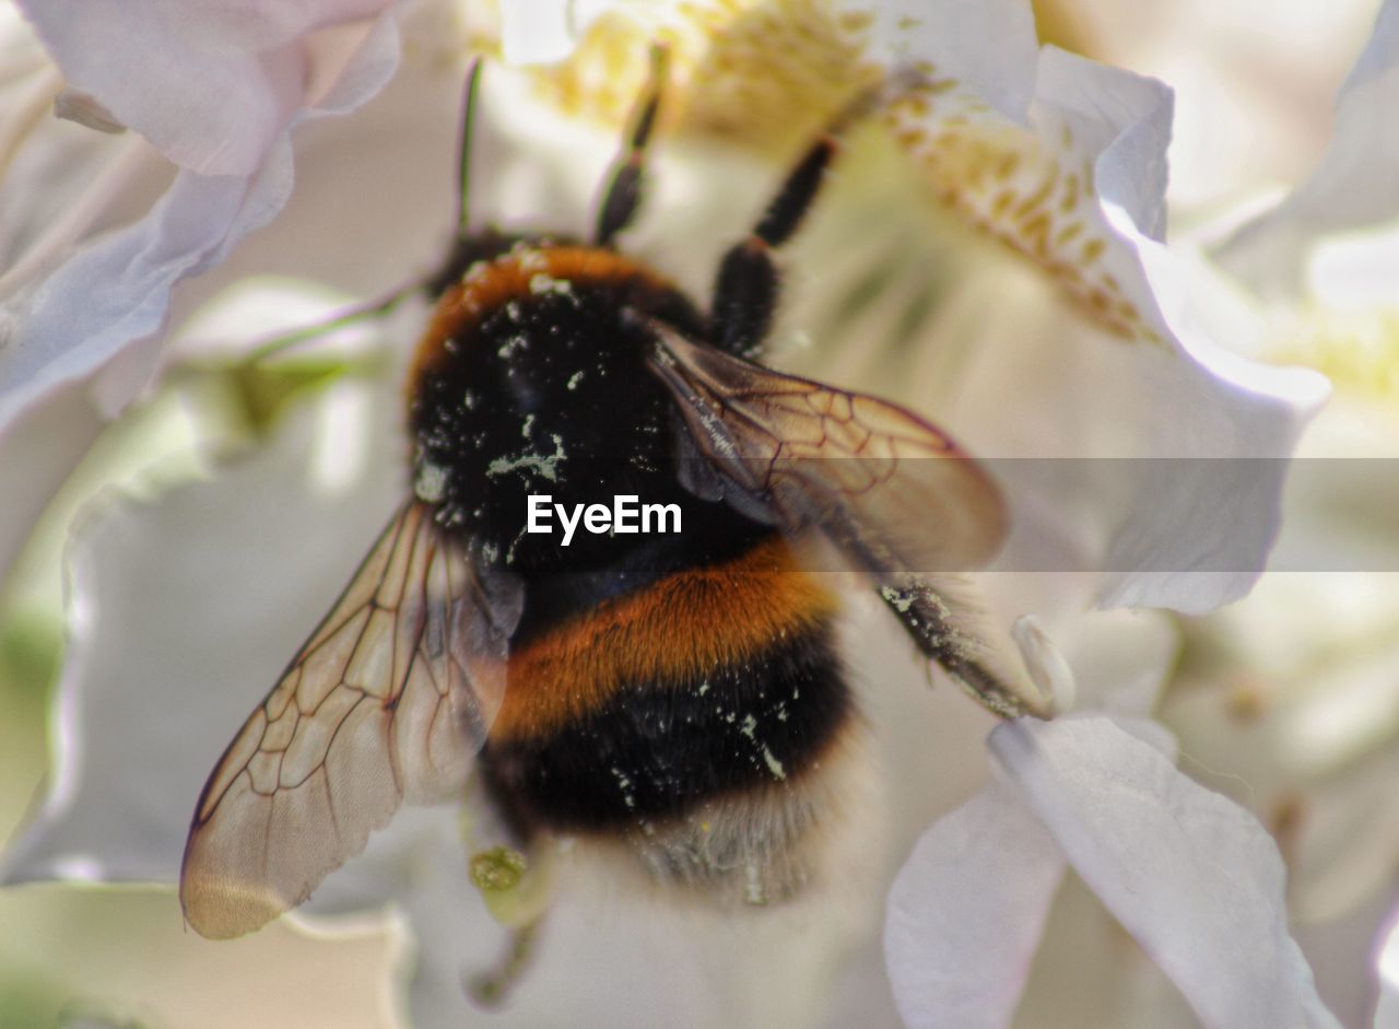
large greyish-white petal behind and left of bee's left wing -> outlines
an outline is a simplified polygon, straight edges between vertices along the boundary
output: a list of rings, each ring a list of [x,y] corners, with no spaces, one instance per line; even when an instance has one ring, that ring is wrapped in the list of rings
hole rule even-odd
[[[56,767],[7,881],[175,881],[204,778],[396,500],[386,452],[379,476],[319,487],[308,452],[344,438],[305,428],[152,507],[115,504],[83,532]],[[376,430],[393,435],[364,427]]]

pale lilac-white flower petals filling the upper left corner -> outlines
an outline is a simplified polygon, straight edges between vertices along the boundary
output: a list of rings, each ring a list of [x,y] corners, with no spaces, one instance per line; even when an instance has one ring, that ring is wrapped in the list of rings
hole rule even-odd
[[[62,218],[48,213],[53,223],[0,280],[0,489],[21,498],[0,528],[0,573],[102,420],[145,386],[171,290],[217,266],[287,203],[292,130],[360,106],[393,74],[393,18],[364,21],[385,6],[24,6],[70,88],[154,151],[123,143],[62,171],[71,207]],[[41,67],[10,88],[42,105],[56,92],[45,95],[50,81]],[[27,146],[55,146],[55,136]],[[168,175],[159,157],[179,165],[169,188],[143,217],[113,227],[133,204],[150,204],[151,181]],[[39,459],[36,438],[50,441]]]

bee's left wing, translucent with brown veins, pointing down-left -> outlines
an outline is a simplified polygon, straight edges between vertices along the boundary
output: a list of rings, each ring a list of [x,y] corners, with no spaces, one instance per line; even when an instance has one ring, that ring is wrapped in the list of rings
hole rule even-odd
[[[395,515],[204,785],[180,872],[197,932],[250,932],[403,801],[460,791],[505,690],[519,601],[427,507]]]

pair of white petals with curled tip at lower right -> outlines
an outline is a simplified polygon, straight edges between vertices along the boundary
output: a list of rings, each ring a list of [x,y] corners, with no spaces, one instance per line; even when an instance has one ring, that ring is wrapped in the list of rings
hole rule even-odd
[[[997,777],[919,840],[894,882],[884,945],[905,1022],[1007,1025],[1072,868],[1203,1025],[1339,1025],[1288,935],[1272,839],[1177,771],[1174,739],[1143,717],[1172,633],[1101,617],[1088,633],[1086,685],[1112,686],[1095,703],[1114,714],[997,727]]]

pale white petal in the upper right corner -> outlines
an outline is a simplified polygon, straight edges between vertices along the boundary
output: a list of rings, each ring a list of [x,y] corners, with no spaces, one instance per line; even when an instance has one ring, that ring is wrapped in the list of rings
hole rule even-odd
[[[1321,164],[1276,209],[1241,228],[1219,259],[1260,293],[1297,295],[1318,237],[1399,217],[1399,0],[1385,0],[1336,101],[1335,137]]]

